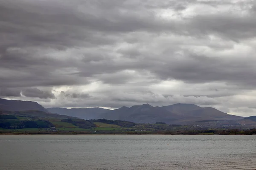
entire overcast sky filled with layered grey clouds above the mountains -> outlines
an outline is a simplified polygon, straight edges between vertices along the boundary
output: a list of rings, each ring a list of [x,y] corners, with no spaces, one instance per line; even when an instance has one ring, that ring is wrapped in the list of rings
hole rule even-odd
[[[255,0],[0,0],[0,97],[256,115]]]

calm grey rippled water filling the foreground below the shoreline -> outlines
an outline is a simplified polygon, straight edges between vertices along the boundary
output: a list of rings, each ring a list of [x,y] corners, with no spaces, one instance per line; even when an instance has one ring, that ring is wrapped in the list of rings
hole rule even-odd
[[[256,136],[0,136],[0,170],[236,169],[256,169]]]

